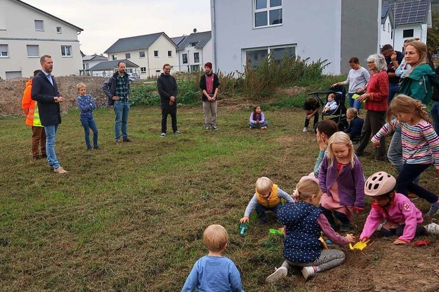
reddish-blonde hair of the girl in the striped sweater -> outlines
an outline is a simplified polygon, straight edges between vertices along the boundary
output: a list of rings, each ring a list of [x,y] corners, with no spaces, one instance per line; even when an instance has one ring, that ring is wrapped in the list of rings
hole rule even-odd
[[[392,116],[396,114],[418,114],[421,119],[431,123],[425,104],[407,95],[398,95],[392,99],[386,114],[387,121],[392,121]]]

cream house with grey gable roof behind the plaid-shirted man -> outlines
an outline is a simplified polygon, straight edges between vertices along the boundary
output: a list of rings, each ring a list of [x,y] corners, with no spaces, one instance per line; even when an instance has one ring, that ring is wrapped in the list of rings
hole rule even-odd
[[[130,60],[140,67],[141,79],[160,75],[164,64],[178,65],[176,44],[164,33],[119,38],[105,53],[108,60]]]

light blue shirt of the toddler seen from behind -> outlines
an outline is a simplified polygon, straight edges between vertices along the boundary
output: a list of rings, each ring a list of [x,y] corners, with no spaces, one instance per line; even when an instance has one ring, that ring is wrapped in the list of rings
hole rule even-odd
[[[232,260],[224,256],[199,258],[186,279],[182,292],[241,292],[241,275]]]

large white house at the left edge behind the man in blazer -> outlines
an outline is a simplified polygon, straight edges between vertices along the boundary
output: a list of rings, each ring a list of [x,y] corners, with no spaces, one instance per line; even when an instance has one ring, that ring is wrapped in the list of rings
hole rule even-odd
[[[82,31],[23,1],[0,0],[0,77],[32,76],[43,55],[54,60],[54,75],[79,75]]]

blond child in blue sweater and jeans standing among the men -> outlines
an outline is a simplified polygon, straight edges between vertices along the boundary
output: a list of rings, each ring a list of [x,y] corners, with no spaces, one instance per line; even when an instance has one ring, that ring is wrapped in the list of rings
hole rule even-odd
[[[95,119],[93,119],[93,110],[96,108],[95,99],[91,95],[86,94],[86,86],[84,83],[78,83],[76,86],[78,88],[78,108],[80,109],[80,121],[82,127],[84,127],[85,143],[87,145],[87,150],[98,149],[97,145],[97,125]],[[90,130],[93,131],[93,147],[90,144]]]

